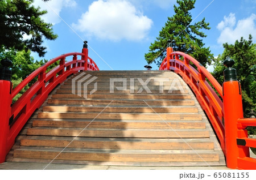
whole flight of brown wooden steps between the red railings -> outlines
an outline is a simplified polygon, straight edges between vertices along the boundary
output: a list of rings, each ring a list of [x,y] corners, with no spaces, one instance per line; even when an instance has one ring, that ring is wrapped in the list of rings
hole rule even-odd
[[[94,89],[90,83],[87,91],[76,85],[72,94],[72,79],[81,73],[53,91],[18,136],[7,160],[122,166],[225,164],[196,98],[174,72],[85,71],[97,77],[97,91],[89,95]],[[117,91],[123,84],[115,82],[110,93],[110,78],[126,78],[127,90]],[[129,89],[131,78],[134,92]],[[151,79],[147,84],[151,93],[138,78]],[[155,78],[169,79],[163,92]],[[184,91],[169,92],[172,82],[180,82]]]

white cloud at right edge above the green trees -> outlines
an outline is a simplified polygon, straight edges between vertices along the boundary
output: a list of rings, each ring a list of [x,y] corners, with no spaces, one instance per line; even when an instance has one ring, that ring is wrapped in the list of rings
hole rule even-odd
[[[249,34],[256,40],[256,15],[251,14],[248,18],[236,22],[235,14],[230,13],[228,17],[224,16],[224,20],[218,23],[217,29],[221,31],[217,40],[218,44],[225,42],[233,44],[241,37],[248,38]]]

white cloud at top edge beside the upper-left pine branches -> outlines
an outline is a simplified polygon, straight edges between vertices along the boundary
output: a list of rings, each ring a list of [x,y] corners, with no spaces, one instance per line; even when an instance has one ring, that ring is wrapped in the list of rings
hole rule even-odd
[[[39,6],[41,10],[47,10],[47,14],[43,15],[42,18],[47,23],[52,23],[55,25],[61,22],[61,19],[58,17],[61,10],[64,7],[75,7],[77,6],[77,3],[75,0],[52,0],[47,1],[46,3],[42,0],[35,0],[33,5],[35,7]]]

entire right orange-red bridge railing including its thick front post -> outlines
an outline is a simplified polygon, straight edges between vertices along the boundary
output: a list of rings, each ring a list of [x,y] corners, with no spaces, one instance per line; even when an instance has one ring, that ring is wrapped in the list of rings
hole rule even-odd
[[[227,62],[229,71],[231,66],[233,64]],[[167,48],[167,57],[159,70],[176,72],[191,87],[217,134],[228,168],[256,169],[256,159],[249,153],[249,147],[256,148],[256,139],[248,138],[245,129],[256,126],[256,119],[243,118],[240,82],[226,73],[227,80],[221,87],[196,59],[182,52],[173,52],[171,47]]]

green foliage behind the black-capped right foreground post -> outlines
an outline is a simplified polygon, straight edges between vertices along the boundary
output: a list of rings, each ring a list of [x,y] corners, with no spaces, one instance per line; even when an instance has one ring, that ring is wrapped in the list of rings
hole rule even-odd
[[[225,69],[223,61],[230,57],[236,62],[234,68],[237,70],[238,80],[241,82],[243,112],[249,117],[249,112],[254,109],[256,112],[256,44],[253,44],[253,37],[249,35],[249,40],[241,37],[240,41],[233,44],[225,43],[224,52],[214,59],[213,76],[222,84],[224,82],[223,71]]]

